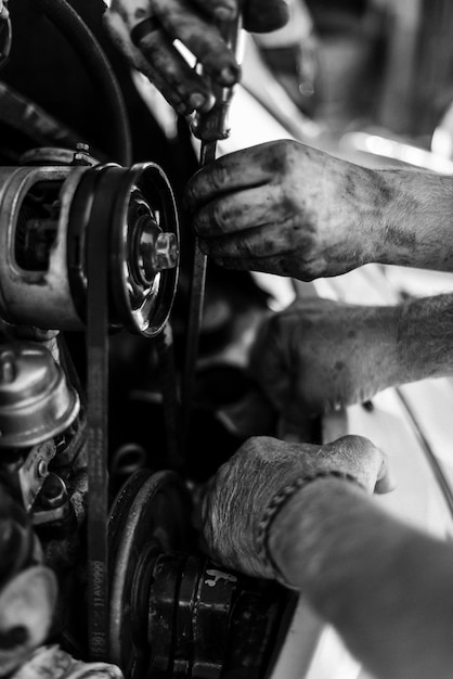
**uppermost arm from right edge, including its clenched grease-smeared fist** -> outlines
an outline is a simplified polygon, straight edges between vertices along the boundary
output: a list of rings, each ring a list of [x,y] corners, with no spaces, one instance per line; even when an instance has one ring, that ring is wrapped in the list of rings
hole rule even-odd
[[[375,261],[453,271],[453,182],[353,165],[281,140],[223,156],[189,182],[206,254],[225,267],[338,276]]]

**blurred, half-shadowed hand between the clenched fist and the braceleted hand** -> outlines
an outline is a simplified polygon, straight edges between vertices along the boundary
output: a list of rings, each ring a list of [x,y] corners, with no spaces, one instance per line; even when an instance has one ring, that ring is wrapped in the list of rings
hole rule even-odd
[[[400,307],[300,299],[262,322],[251,376],[287,423],[364,402],[406,377],[400,313]]]

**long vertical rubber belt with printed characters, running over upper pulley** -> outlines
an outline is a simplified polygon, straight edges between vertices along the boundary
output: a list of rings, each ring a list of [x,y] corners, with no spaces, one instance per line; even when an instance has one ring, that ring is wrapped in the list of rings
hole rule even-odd
[[[89,649],[108,661],[108,259],[112,206],[122,168],[100,170],[87,233],[88,592]],[[124,171],[124,170],[122,170]],[[112,204],[112,202],[111,202]]]

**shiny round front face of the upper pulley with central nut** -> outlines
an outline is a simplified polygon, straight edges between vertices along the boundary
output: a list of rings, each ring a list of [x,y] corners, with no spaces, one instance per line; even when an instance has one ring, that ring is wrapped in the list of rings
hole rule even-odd
[[[166,323],[179,274],[179,226],[171,187],[158,165],[133,165],[116,196],[112,292],[121,322],[153,337]]]

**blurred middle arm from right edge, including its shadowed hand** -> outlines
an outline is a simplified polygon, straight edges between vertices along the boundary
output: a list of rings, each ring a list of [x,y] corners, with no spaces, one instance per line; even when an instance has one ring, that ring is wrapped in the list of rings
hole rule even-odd
[[[452,375],[453,295],[389,307],[298,300],[262,322],[249,370],[290,428],[387,387]]]

